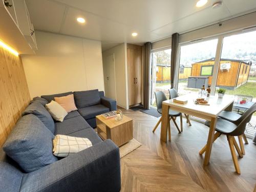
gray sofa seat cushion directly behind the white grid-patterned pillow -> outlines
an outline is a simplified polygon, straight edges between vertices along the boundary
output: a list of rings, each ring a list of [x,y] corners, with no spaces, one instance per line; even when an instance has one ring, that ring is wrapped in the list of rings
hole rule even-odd
[[[81,116],[73,117],[63,122],[55,123],[55,135],[68,135],[90,127]]]

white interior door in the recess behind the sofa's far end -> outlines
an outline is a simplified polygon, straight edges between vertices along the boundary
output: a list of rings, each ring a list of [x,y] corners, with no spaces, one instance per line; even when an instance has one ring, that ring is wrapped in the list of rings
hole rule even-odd
[[[104,65],[105,96],[116,100],[116,79],[114,54],[106,57]]]

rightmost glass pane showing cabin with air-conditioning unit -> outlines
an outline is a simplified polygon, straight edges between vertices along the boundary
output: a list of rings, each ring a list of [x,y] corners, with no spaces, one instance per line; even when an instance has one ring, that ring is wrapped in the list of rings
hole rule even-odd
[[[243,113],[256,102],[256,31],[226,36],[223,46],[216,91],[226,89],[234,95],[233,111]],[[247,124],[245,134],[253,137],[256,131],[256,113]]]

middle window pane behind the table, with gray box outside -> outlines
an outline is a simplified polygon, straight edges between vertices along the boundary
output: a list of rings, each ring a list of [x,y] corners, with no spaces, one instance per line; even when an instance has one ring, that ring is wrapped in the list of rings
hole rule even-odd
[[[180,95],[197,92],[203,84],[206,87],[211,83],[217,43],[218,39],[212,39],[180,47],[178,79]]]

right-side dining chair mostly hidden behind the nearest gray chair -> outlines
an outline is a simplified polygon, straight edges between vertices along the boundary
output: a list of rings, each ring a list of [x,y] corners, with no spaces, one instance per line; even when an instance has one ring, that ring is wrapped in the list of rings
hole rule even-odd
[[[253,107],[253,105],[251,106],[251,108]],[[221,112],[221,114],[218,117],[221,118],[221,119],[225,119],[227,121],[230,121],[230,122],[236,122],[241,116],[242,115],[240,115],[238,113],[235,113],[235,112],[223,111],[223,112]],[[251,116],[248,118],[248,122],[250,122]],[[241,149],[243,155],[245,155],[243,139],[244,139],[245,143],[248,144],[247,138],[246,138],[244,133],[242,135],[238,136],[238,141],[239,141],[240,149]]]

